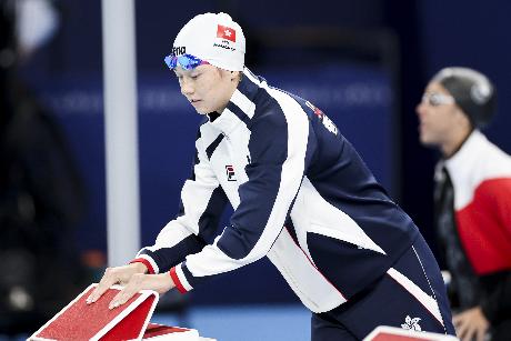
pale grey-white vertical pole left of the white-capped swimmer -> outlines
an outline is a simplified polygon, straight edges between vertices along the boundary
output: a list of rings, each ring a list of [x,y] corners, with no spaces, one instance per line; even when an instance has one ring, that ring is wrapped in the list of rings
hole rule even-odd
[[[140,249],[137,74],[133,0],[103,0],[108,263]]]

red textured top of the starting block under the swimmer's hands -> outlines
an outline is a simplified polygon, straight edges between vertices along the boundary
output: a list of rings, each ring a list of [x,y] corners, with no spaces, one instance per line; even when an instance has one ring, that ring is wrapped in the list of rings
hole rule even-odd
[[[73,304],[63,311],[56,320],[53,320],[47,328],[39,332],[36,337],[53,340],[89,340],[94,337],[102,328],[104,328],[117,315],[124,311],[140,293],[137,293],[126,304],[113,310],[108,309],[108,304],[119,290],[109,289],[96,303],[87,304],[86,300],[94,288],[87,290]],[[141,305],[143,311],[140,313],[131,312],[129,317],[132,328],[126,328],[126,334],[116,334],[117,340],[134,339],[138,337],[143,321],[138,322],[137,319],[144,320],[148,313],[148,307],[154,300],[154,297],[148,298]],[[137,311],[138,309],[136,309]],[[133,317],[130,317],[133,315]],[[113,339],[104,339],[113,340]]]

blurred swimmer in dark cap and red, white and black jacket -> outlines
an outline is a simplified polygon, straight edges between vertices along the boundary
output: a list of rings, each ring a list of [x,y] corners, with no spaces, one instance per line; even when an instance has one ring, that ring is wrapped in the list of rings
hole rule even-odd
[[[495,103],[485,76],[445,68],[417,107],[421,143],[441,152],[435,228],[462,340],[511,340],[511,158],[480,130]]]

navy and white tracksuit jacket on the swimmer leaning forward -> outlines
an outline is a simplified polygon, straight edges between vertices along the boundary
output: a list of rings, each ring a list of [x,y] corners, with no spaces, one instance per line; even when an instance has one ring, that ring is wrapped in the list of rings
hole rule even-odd
[[[385,273],[405,281],[392,264],[418,228],[310,102],[246,69],[227,109],[200,126],[196,147],[179,217],[133,260],[152,273],[170,270],[181,292],[263,257],[315,313]],[[206,244],[227,202],[230,223]]]

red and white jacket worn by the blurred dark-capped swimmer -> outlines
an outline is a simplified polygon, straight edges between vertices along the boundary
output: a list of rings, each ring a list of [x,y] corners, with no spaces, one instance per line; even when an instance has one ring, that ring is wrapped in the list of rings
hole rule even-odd
[[[511,157],[474,130],[442,162],[454,189],[460,241],[474,272],[511,270]]]

